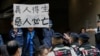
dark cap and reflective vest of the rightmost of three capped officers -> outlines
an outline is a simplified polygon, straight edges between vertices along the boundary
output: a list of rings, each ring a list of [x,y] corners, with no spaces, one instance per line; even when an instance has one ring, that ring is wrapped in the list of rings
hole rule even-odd
[[[80,34],[80,38],[88,40],[89,36],[87,34]],[[82,53],[82,56],[100,56],[100,51],[89,42],[80,45],[79,51]]]

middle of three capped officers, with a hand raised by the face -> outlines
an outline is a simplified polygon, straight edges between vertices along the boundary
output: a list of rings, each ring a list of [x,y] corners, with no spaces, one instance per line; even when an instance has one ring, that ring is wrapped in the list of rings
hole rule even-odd
[[[79,35],[75,32],[70,33],[69,36],[67,34],[64,34],[64,35],[65,35],[64,38],[69,40],[70,47],[73,48],[77,56],[79,56],[80,55],[79,43],[78,43]]]

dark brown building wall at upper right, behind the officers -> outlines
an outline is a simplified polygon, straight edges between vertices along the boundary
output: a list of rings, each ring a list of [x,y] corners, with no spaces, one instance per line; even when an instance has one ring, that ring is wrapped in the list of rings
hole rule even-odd
[[[70,0],[69,26],[78,32],[81,27],[95,28],[97,14],[100,14],[100,0]],[[89,33],[90,42],[95,44],[94,32]]]

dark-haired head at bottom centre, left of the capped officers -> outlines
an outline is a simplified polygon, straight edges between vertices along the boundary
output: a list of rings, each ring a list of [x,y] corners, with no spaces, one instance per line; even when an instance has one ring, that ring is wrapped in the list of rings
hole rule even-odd
[[[49,53],[49,50],[46,46],[40,46],[37,50],[36,50],[36,56],[47,56]]]

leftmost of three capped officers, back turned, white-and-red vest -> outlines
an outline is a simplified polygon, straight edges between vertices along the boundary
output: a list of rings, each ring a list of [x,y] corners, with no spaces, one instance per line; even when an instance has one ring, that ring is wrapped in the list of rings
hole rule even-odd
[[[60,33],[54,34],[52,45],[52,50],[48,56],[77,56],[72,48],[63,45],[63,36]]]

